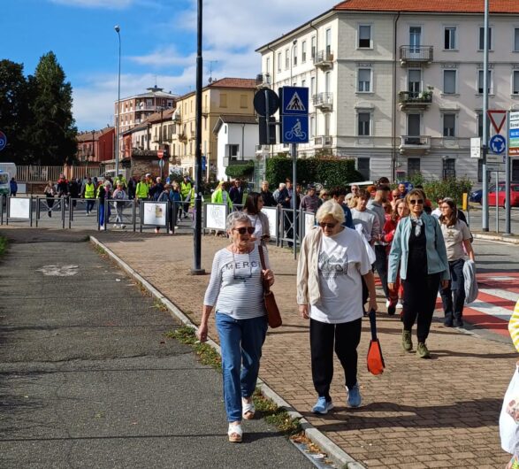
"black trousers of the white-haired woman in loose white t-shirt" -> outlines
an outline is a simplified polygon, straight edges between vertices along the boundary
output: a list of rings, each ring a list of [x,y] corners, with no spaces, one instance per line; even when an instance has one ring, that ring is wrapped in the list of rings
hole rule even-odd
[[[361,340],[363,319],[328,324],[310,319],[310,351],[312,379],[319,396],[330,400],[330,384],[333,378],[333,345],[344,369],[347,388],[357,383],[357,347]]]

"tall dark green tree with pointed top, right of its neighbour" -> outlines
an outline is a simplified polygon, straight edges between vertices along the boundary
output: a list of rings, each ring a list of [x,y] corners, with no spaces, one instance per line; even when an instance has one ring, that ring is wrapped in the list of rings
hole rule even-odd
[[[73,88],[53,52],[40,58],[34,79],[29,77],[33,123],[30,140],[34,164],[72,163],[77,152],[73,119]]]

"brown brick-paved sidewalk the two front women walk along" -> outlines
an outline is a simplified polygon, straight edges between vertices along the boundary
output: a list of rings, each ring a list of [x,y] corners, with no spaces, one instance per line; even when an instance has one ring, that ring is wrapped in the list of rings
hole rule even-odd
[[[98,239],[198,323],[209,275],[189,275],[191,236],[100,234]],[[214,252],[226,243],[222,238],[203,237],[202,267],[208,273]],[[498,419],[517,359],[511,343],[446,329],[436,322],[428,341],[432,359],[419,360],[401,351],[401,322],[381,313],[378,332],[385,373],[375,377],[365,368],[369,343],[365,321],[359,347],[363,406],[346,407],[343,376],[336,362],[332,386],[336,408],[317,418],[309,412],[316,396],[309,367],[308,322],[296,313],[293,254],[271,248],[270,258],[276,273],[273,290],[285,325],[268,334],[261,378],[295,410],[366,467],[506,465],[508,455],[500,450]],[[214,320],[210,336],[218,340]]]

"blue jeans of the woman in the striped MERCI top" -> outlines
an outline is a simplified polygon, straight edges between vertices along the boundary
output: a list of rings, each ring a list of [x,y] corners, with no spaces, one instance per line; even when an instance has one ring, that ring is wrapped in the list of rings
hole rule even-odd
[[[220,347],[227,421],[241,420],[241,397],[252,396],[259,373],[262,346],[267,334],[267,317],[233,319],[216,315]]]

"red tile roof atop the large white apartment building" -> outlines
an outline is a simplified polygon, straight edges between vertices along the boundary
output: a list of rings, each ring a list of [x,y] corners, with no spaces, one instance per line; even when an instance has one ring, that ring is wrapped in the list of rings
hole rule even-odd
[[[484,0],[346,0],[333,10],[350,12],[482,13]],[[517,0],[490,0],[491,13],[519,13]]]

